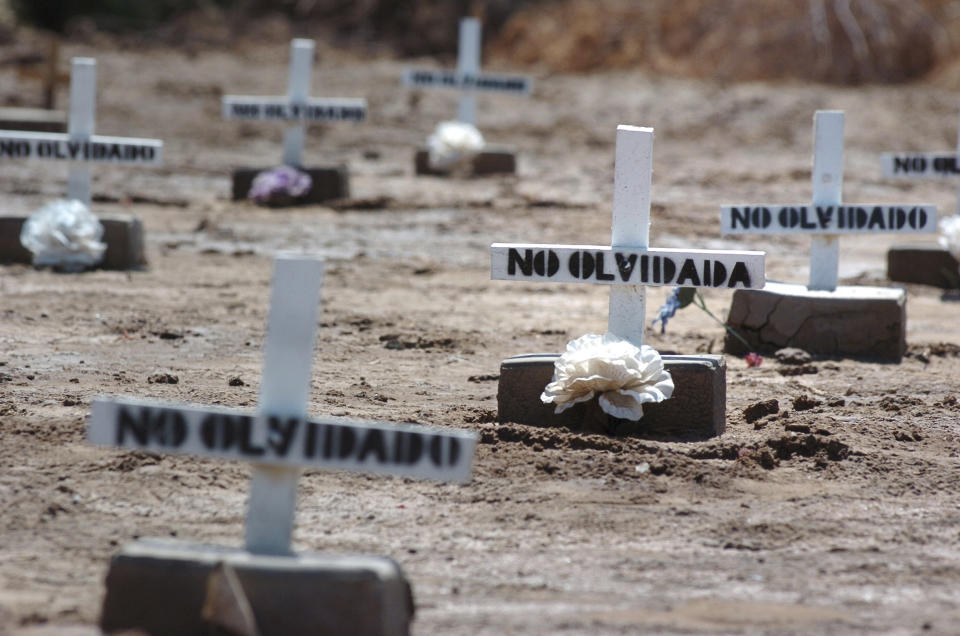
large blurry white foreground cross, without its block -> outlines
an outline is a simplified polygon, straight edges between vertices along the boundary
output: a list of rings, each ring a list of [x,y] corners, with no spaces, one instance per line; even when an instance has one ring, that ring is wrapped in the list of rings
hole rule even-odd
[[[254,462],[246,548],[289,554],[302,467],[465,482],[477,436],[384,422],[307,419],[323,261],[278,258],[255,415],[98,398],[88,439],[148,452]]]

